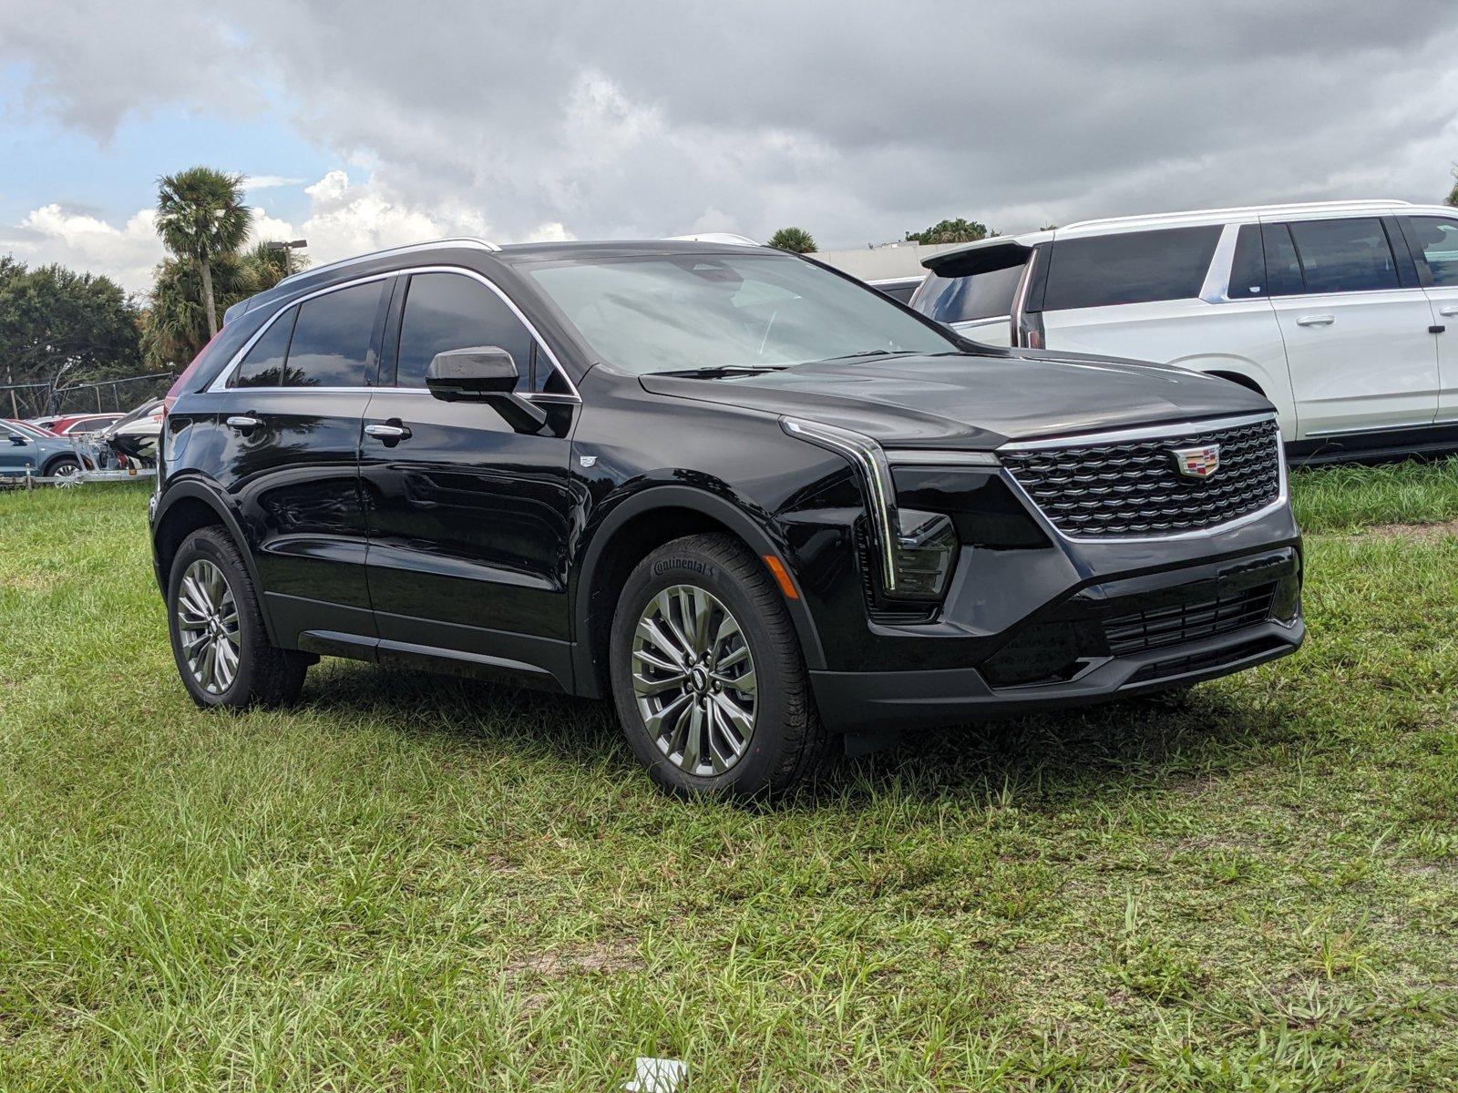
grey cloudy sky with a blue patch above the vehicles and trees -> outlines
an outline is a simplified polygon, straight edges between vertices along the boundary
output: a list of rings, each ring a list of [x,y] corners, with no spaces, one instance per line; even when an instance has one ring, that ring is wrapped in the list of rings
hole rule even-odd
[[[146,289],[156,176],[315,261],[943,216],[1436,201],[1458,4],[0,0],[0,254]],[[1400,17],[1398,17],[1400,10]]]

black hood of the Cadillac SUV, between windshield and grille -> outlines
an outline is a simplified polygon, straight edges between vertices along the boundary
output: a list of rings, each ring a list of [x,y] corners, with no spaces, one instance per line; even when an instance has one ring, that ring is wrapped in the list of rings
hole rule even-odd
[[[677,398],[792,414],[888,447],[991,449],[1009,440],[1271,411],[1252,391],[1168,364],[1040,353],[943,353],[799,364],[716,379],[642,376]]]

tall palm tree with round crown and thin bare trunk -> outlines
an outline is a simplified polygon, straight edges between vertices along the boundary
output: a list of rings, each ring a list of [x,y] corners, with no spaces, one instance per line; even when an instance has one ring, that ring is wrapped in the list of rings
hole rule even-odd
[[[208,337],[217,334],[213,262],[243,245],[252,220],[243,204],[242,175],[188,168],[157,179],[157,235],[163,246],[197,268]]]

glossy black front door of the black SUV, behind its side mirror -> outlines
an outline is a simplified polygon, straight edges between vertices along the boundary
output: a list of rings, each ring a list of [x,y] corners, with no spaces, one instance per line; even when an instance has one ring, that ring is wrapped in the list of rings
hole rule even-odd
[[[360,453],[381,659],[445,656],[566,685],[576,395],[486,278],[416,273],[402,287],[386,331],[394,385],[370,399]],[[475,345],[512,354],[547,426],[516,431],[487,404],[426,391],[437,353]]]

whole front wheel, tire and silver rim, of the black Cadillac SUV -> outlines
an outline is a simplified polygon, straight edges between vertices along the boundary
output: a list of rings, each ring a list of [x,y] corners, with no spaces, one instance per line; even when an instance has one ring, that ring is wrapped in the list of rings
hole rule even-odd
[[[612,621],[612,694],[634,753],[681,796],[790,790],[825,732],[795,625],[764,565],[728,535],[644,558]]]

